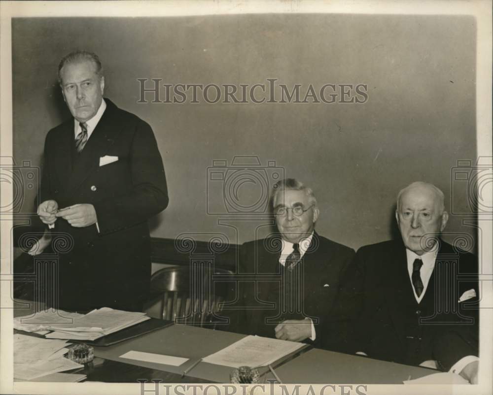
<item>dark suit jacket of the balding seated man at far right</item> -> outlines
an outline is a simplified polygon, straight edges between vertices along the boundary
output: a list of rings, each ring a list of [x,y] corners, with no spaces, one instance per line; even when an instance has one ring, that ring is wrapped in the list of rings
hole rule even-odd
[[[358,250],[350,288],[357,290],[354,297],[362,310],[355,320],[358,336],[352,351],[413,365],[435,360],[443,370],[466,355],[478,355],[478,298],[458,303],[467,290],[479,295],[477,259],[442,240],[439,243],[420,303],[413,294],[401,240]],[[445,338],[454,341],[445,345]]]

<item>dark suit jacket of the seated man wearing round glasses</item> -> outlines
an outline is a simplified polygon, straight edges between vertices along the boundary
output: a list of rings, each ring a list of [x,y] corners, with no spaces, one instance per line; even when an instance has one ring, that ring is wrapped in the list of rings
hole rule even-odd
[[[240,333],[275,337],[274,328],[284,319],[312,318],[316,329],[315,345],[322,341],[322,323],[330,320],[330,311],[338,293],[341,273],[354,257],[354,251],[314,233],[312,243],[298,263],[303,286],[298,291],[301,309],[284,309],[284,269],[279,263],[281,238],[273,236],[247,242],[241,247],[240,292],[232,316],[232,330]],[[302,273],[302,274],[301,274]]]

